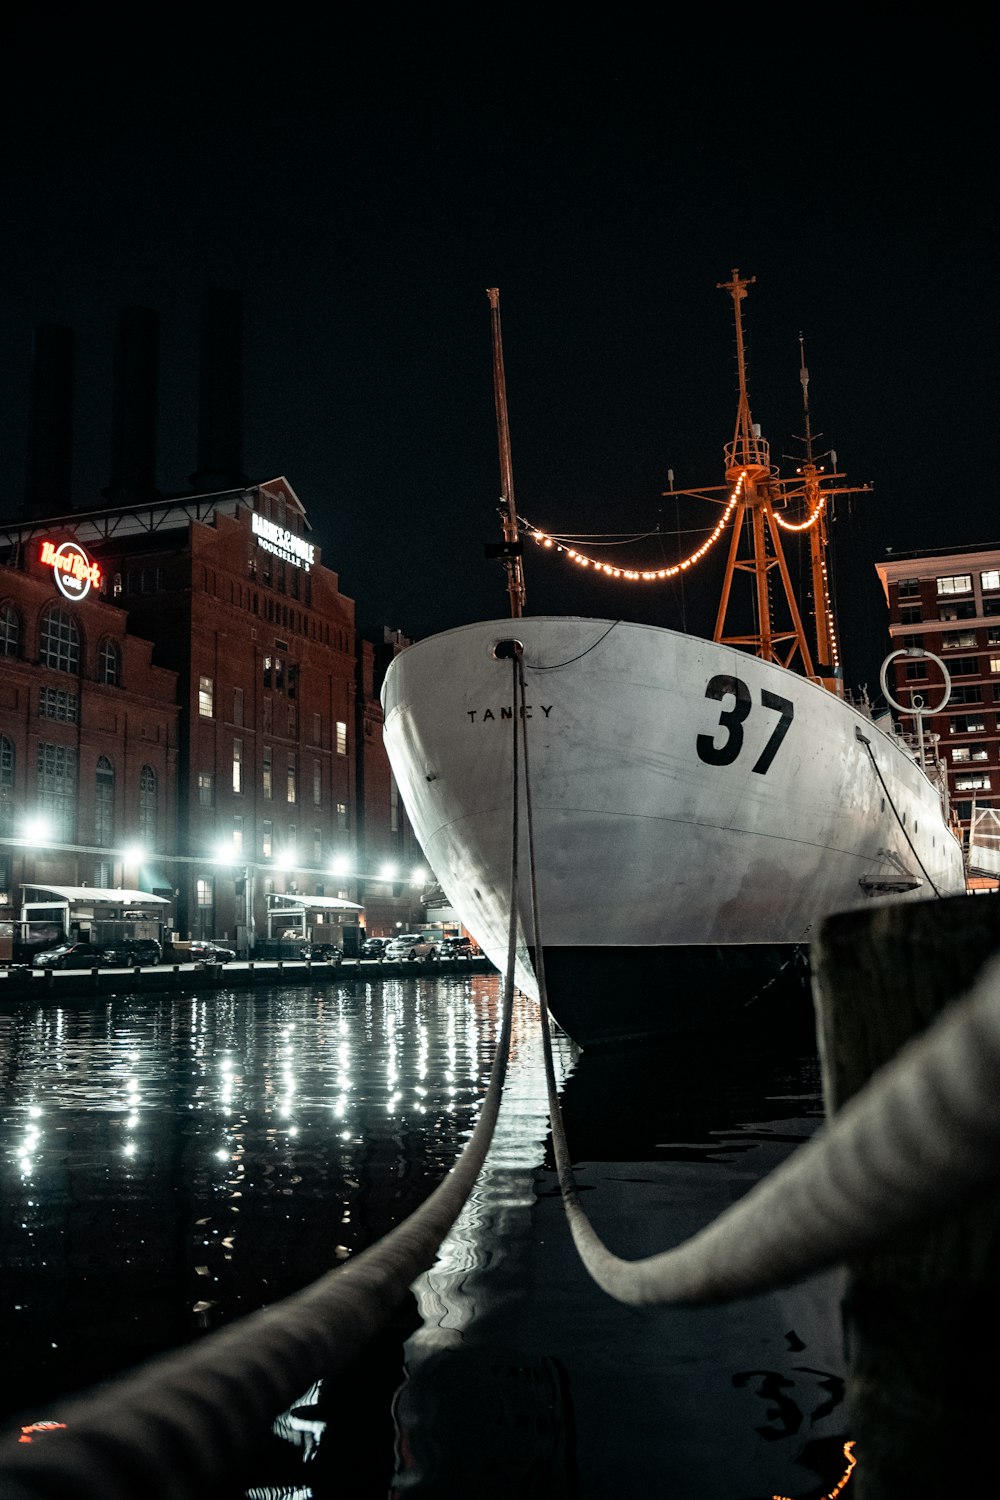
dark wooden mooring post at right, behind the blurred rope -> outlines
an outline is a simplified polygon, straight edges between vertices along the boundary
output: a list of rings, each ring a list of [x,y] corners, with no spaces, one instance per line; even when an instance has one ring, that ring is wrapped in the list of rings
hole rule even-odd
[[[972,986],[1000,951],[1000,900],[955,896],[829,918],[811,946],[828,1114]],[[933,1122],[928,1120],[928,1128]],[[847,1268],[856,1500],[982,1494],[1000,1336],[1000,1203],[943,1214]]]

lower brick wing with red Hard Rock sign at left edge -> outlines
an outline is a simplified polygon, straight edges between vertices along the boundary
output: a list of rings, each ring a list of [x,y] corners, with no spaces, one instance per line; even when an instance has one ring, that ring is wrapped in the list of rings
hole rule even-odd
[[[157,856],[172,849],[177,824],[175,674],[153,660],[153,644],[129,627],[102,582],[66,526],[7,538],[0,567],[0,904],[7,910],[28,880],[142,880],[150,892],[168,884]]]

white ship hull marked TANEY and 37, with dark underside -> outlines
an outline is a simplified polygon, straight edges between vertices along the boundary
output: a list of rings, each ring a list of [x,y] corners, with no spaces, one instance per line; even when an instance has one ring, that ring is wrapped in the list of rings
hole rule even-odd
[[[966,888],[907,748],[784,668],[622,621],[523,618],[403,651],[385,746],[417,838],[504,969],[514,676],[523,642],[538,916],[577,1041],[667,1032],[748,998],[832,912]],[[516,982],[537,998],[522,818]]]

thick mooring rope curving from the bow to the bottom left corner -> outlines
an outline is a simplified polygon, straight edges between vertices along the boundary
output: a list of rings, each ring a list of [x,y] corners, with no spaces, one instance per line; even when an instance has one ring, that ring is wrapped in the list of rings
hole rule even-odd
[[[511,732],[516,752],[516,720]],[[229,1486],[270,1422],[315,1380],[342,1374],[433,1264],[486,1160],[507,1076],[517,940],[516,753],[513,762],[501,1030],[480,1118],[448,1176],[402,1224],[303,1292],[60,1401],[57,1431],[0,1443],[3,1500],[190,1500]]]

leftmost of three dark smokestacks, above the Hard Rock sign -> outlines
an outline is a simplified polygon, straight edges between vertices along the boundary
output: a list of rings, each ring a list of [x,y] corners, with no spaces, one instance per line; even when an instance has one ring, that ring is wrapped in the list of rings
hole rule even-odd
[[[31,519],[72,507],[73,356],[72,328],[34,328],[24,488],[24,513]]]

